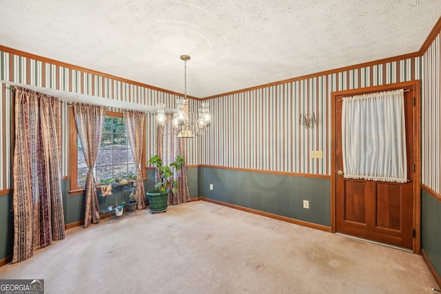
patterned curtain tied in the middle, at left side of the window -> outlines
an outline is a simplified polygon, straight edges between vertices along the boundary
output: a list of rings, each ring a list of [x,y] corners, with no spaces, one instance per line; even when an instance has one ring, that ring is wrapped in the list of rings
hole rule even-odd
[[[104,123],[105,109],[96,105],[74,104],[76,130],[81,140],[88,173],[85,178],[85,213],[84,227],[99,222],[99,202],[96,195],[96,180],[93,167],[98,158],[101,143],[101,129]]]

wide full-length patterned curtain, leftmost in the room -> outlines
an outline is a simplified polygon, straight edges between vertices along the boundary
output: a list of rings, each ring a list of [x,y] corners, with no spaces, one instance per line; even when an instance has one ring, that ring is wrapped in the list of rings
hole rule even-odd
[[[15,90],[12,262],[64,239],[61,195],[61,101],[21,87]]]

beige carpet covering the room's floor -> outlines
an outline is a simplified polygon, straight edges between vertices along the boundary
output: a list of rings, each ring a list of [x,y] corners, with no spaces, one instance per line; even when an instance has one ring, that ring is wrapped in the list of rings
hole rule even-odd
[[[420,255],[210,202],[75,227],[6,264],[45,293],[435,293]]]

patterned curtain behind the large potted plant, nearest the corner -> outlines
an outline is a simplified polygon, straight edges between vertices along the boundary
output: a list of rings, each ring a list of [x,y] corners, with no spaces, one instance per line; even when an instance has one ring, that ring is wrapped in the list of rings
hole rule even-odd
[[[167,115],[167,124],[166,127],[169,129],[164,129],[164,132],[170,133],[172,125],[172,116]],[[166,128],[164,127],[164,128]],[[157,129],[156,135],[156,152],[158,156],[160,156],[164,162],[164,164],[170,164],[173,162],[176,156],[181,155],[186,162],[185,154],[187,154],[186,150],[186,138],[177,138],[176,134],[173,132],[170,136],[163,135],[161,130]],[[156,181],[158,180],[158,175],[156,175]],[[190,193],[188,189],[187,182],[187,168],[185,165],[183,168],[174,173],[174,180],[178,181],[178,193],[170,193],[169,198],[167,200],[167,204],[180,204],[182,202],[187,202],[190,200]]]

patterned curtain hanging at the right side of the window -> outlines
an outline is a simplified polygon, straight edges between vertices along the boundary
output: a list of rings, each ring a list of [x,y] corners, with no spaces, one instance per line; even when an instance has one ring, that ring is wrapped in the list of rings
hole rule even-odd
[[[127,138],[132,149],[133,160],[136,166],[136,174],[138,174],[136,187],[136,209],[144,209],[147,206],[145,200],[145,190],[143,173],[141,172],[141,156],[143,154],[143,129],[145,114],[142,112],[133,112],[123,110],[124,125],[127,132]]]

